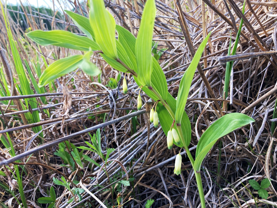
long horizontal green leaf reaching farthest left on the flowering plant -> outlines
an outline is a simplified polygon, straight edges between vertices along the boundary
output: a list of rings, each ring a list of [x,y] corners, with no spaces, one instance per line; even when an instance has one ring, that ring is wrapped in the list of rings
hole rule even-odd
[[[93,40],[89,39],[88,37],[76,35],[64,30],[35,30],[27,33],[26,35],[36,43],[43,46],[55,45],[82,51],[89,51],[89,49],[100,49],[98,44]]]

